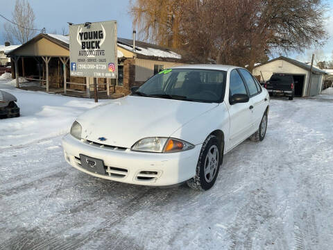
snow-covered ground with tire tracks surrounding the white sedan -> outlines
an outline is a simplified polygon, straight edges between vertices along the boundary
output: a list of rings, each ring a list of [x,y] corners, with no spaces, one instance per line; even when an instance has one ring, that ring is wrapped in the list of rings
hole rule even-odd
[[[22,117],[0,120],[1,250],[332,249],[330,99],[271,100],[265,140],[225,155],[214,188],[196,192],[77,171],[60,142],[94,103],[10,93]]]

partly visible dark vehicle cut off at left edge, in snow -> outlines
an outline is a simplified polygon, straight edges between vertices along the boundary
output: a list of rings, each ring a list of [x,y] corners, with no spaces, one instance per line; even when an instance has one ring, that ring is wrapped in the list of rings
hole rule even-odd
[[[19,117],[19,107],[17,99],[12,94],[0,90],[0,119]]]

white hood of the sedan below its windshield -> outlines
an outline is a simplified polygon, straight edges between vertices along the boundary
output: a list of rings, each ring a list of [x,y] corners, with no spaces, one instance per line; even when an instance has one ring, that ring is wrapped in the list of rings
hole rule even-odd
[[[128,96],[92,108],[77,121],[82,126],[83,139],[130,148],[142,138],[168,138],[191,119],[216,106],[217,103]]]

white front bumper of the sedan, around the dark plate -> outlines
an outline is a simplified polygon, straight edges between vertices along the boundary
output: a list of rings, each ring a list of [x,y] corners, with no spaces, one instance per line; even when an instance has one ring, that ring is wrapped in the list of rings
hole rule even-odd
[[[65,160],[76,169],[112,181],[152,186],[175,185],[195,176],[201,146],[178,153],[144,153],[103,147],[77,140],[70,134],[62,139]],[[103,160],[106,174],[84,169],[80,164],[80,154]]]

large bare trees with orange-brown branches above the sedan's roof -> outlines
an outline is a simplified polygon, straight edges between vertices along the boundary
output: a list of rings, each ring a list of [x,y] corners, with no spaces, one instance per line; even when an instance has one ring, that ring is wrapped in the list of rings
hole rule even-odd
[[[327,39],[322,0],[133,1],[130,13],[146,40],[185,49],[203,63],[251,66]]]

